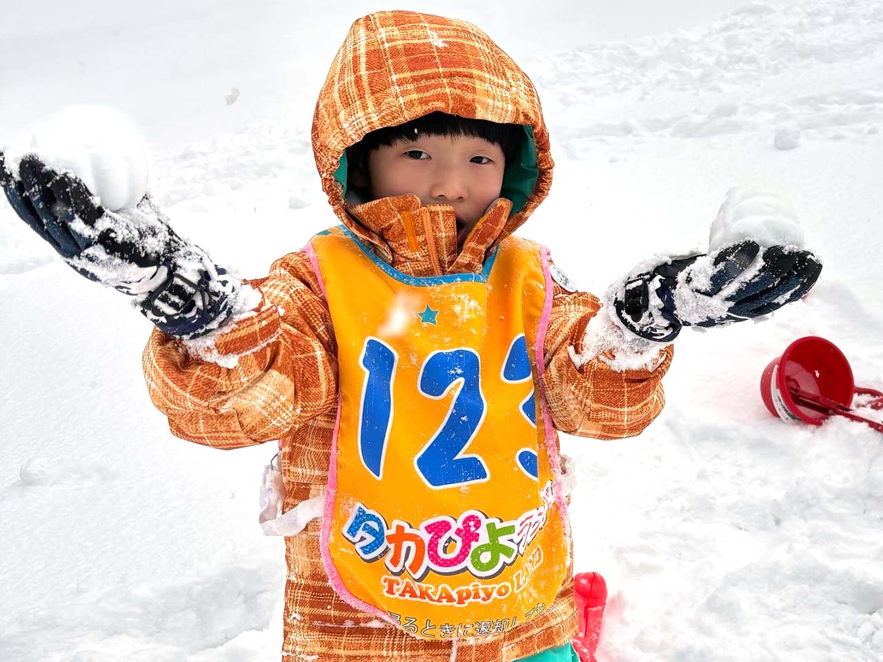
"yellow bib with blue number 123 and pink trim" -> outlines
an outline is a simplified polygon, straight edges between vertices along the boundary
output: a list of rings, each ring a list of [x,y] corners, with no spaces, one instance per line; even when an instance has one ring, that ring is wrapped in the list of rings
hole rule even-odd
[[[540,247],[509,238],[481,274],[435,278],[396,271],[346,229],[307,250],[338,347],[321,534],[332,585],[427,639],[532,620],[570,552],[537,396],[551,296]]]

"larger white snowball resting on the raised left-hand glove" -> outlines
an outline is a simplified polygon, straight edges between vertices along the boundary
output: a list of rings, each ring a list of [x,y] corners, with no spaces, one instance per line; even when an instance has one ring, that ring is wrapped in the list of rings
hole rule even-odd
[[[6,152],[16,175],[26,154],[72,172],[111,211],[135,207],[147,192],[147,146],[116,109],[70,106],[36,124]]]

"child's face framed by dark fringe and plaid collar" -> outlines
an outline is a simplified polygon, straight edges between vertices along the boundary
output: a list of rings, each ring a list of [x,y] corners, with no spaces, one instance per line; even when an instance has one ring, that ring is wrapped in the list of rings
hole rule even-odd
[[[460,245],[500,197],[505,165],[499,145],[474,136],[421,135],[368,154],[374,199],[416,195],[421,205],[454,207]]]

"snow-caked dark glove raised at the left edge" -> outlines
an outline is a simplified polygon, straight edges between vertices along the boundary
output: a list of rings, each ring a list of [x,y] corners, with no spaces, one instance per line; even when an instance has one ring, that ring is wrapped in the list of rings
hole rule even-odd
[[[69,172],[26,155],[18,177],[0,153],[13,210],[80,275],[132,297],[164,333],[191,339],[219,327],[251,290],[179,237],[149,195],[111,212]]]

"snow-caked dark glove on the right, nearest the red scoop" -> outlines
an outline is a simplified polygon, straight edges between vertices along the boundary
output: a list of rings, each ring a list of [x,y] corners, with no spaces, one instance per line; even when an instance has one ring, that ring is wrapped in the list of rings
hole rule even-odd
[[[751,320],[803,297],[822,265],[809,251],[749,240],[708,254],[648,260],[607,291],[615,320],[651,342],[672,342],[682,327]]]

